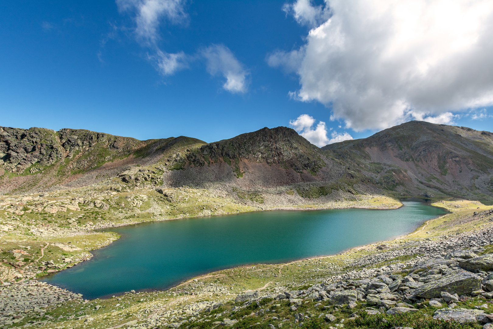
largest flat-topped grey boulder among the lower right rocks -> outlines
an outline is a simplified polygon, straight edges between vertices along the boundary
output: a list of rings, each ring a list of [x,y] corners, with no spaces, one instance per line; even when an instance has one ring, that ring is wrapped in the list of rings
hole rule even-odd
[[[481,289],[481,278],[471,272],[458,272],[445,275],[436,280],[423,284],[412,292],[423,298],[439,298],[441,292],[467,294]]]

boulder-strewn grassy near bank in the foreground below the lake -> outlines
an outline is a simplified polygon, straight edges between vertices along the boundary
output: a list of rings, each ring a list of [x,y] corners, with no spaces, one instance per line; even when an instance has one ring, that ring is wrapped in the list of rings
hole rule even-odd
[[[135,321],[132,324],[122,322],[120,325],[133,328],[138,324],[141,329],[180,326],[194,328],[201,323],[210,323],[211,326],[208,325],[207,328],[217,325],[237,327],[246,320],[255,318],[261,324],[266,324],[268,320],[268,324],[276,328],[315,319],[323,320],[322,324],[330,325],[329,327],[341,327],[344,324],[348,326],[347,321],[354,322],[358,318],[361,320],[366,315],[390,316],[402,313],[418,314],[417,312],[427,314],[423,312],[433,311],[432,318],[435,320],[454,320],[463,324],[481,323],[485,329],[490,329],[493,320],[493,300],[490,303],[490,299],[493,299],[493,255],[490,254],[493,252],[493,227],[489,223],[493,221],[493,210],[459,218],[461,223],[472,220],[481,220],[485,222],[481,224],[484,226],[452,236],[445,234],[418,239],[402,237],[376,246],[358,248],[358,251],[373,250],[369,255],[352,256],[356,253],[355,249],[352,249],[343,255],[292,262],[300,263],[298,266],[315,263],[311,269],[305,270],[306,279],[297,283],[302,286],[313,281],[315,274],[310,273],[317,273],[319,270],[318,260],[342,257],[339,263],[330,265],[333,275],[304,289],[288,289],[288,286],[293,286],[292,282],[276,284],[274,288],[269,288],[269,284],[273,285],[271,282],[265,285],[266,289],[264,287],[237,295],[232,291],[233,287],[228,288],[213,281],[205,282],[207,276],[196,278],[163,292],[157,301],[146,306],[144,318],[132,320]],[[378,266],[382,263],[385,265]],[[279,266],[280,275],[284,271],[282,266]],[[349,270],[351,268],[353,269]],[[219,276],[221,274],[216,275]],[[1,328],[15,327],[18,324],[22,324],[23,327],[53,328],[56,324],[66,322],[71,322],[70,326],[74,328],[94,327],[93,324],[98,323],[96,315],[89,315],[87,313],[90,312],[85,310],[98,311],[101,305],[106,307],[105,303],[111,303],[116,298],[106,301],[83,301],[79,294],[29,279],[7,283],[0,289]],[[150,296],[152,293],[158,292],[130,292],[117,299],[135,299]],[[198,300],[204,297],[213,297],[213,300]],[[478,301],[483,304],[478,304]],[[58,309],[67,303],[72,306],[80,304],[84,311],[55,318],[50,310]],[[98,307],[96,303],[101,305]],[[252,306],[253,304],[256,307]],[[282,319],[279,316],[271,316],[273,306],[278,304],[281,305],[274,307],[275,313],[284,314]],[[309,312],[304,312],[308,306],[311,306]],[[118,306],[114,307],[118,309]],[[267,311],[268,309],[270,311]],[[135,314],[138,314],[139,310],[136,310]],[[222,312],[217,313],[218,310]],[[241,318],[236,316],[245,313],[246,310],[253,312],[244,314]],[[112,314],[118,316],[118,312]],[[126,314],[128,316],[132,313]],[[341,319],[341,314],[345,320]],[[74,321],[75,323],[72,323]]]

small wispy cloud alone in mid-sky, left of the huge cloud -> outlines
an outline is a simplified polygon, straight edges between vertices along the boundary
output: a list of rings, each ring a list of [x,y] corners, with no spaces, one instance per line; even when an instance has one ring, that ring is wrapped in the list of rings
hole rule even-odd
[[[207,72],[211,75],[222,74],[226,78],[223,88],[232,93],[245,93],[248,87],[248,73],[228,47],[213,44],[203,48],[200,53],[206,59]]]

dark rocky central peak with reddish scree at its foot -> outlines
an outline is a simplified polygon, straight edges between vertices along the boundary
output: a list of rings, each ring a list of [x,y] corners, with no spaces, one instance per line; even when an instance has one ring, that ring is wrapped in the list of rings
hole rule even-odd
[[[266,127],[189,149],[175,162],[173,167],[167,162],[167,168],[181,169],[167,173],[170,186],[230,183],[259,189],[333,181],[343,172],[320,148],[286,127]]]

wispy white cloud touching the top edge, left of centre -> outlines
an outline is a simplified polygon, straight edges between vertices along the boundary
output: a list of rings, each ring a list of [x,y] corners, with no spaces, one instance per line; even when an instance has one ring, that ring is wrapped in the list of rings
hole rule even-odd
[[[159,39],[158,27],[163,18],[174,24],[188,18],[184,3],[185,0],[116,0],[120,11],[135,13],[135,33],[145,44],[155,43]]]

